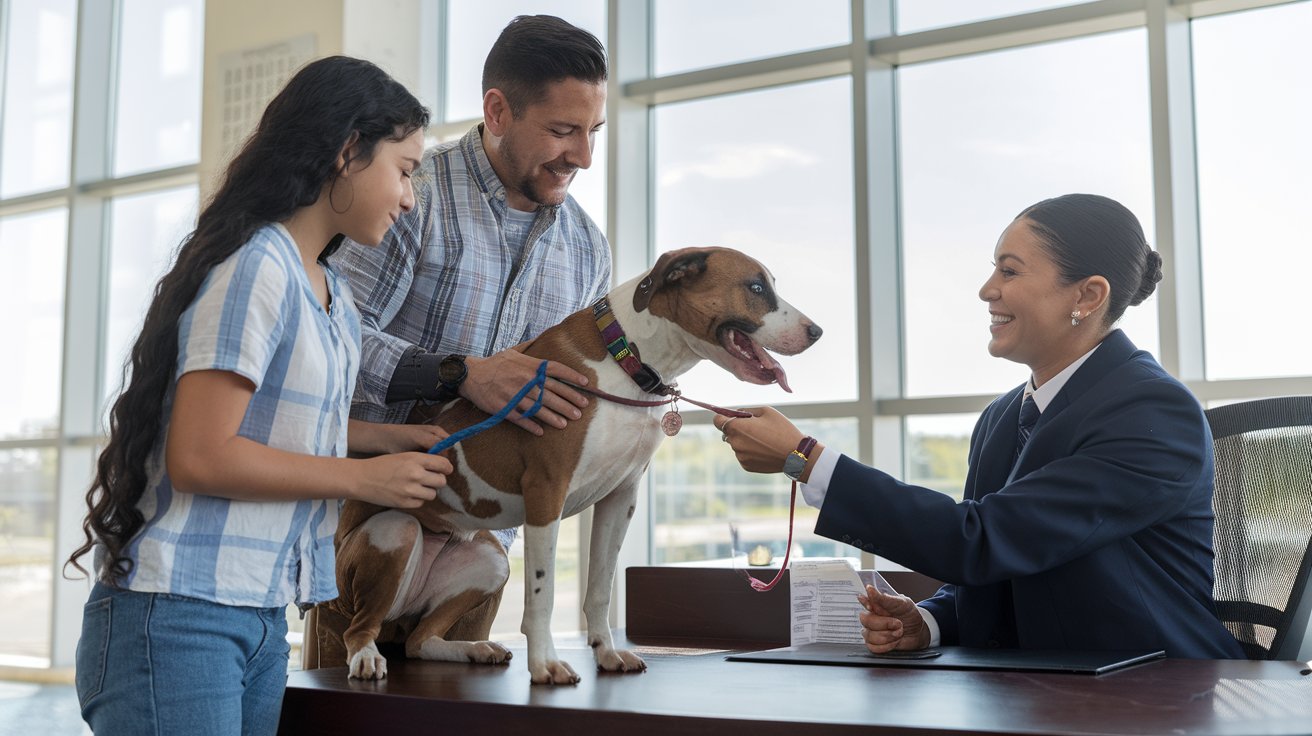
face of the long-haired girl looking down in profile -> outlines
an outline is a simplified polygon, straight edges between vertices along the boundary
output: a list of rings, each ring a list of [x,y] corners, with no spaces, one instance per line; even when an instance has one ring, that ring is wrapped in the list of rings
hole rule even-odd
[[[392,224],[415,206],[411,176],[424,155],[424,131],[401,140],[379,140],[367,164],[349,163],[342,173],[350,205],[340,215],[340,231],[356,243],[378,245]],[[340,201],[341,194],[336,195]]]

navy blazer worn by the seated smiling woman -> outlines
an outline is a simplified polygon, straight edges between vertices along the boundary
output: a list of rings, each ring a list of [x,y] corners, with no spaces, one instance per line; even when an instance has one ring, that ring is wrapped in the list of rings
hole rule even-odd
[[[1023,386],[971,436],[964,500],[838,460],[816,533],[947,583],[943,644],[1242,659],[1212,600],[1212,440],[1202,407],[1118,329],[1015,459]]]

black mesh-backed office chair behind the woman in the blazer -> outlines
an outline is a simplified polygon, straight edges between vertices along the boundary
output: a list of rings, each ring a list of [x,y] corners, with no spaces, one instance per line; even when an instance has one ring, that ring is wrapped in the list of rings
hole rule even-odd
[[[1216,454],[1214,594],[1249,659],[1312,657],[1312,396],[1207,409]]]

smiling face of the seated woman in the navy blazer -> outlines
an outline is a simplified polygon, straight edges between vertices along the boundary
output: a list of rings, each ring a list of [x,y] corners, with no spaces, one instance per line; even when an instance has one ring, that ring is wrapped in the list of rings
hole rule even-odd
[[[980,299],[988,303],[993,357],[1025,363],[1035,375],[1069,357],[1077,341],[1071,312],[1080,303],[1080,286],[1061,283],[1030,220],[1017,219],[1002,231]]]

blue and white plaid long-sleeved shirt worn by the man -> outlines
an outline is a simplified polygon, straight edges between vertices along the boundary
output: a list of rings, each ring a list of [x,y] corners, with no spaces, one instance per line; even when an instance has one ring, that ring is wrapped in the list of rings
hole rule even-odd
[[[352,416],[403,422],[413,401],[387,404],[412,345],[491,356],[541,335],[610,289],[606,236],[575,202],[539,207],[523,243],[506,243],[505,185],[483,151],[482,125],[424,153],[415,207],[382,245],[348,240],[333,256],[363,320]]]

